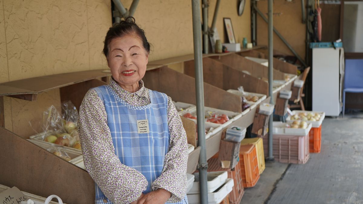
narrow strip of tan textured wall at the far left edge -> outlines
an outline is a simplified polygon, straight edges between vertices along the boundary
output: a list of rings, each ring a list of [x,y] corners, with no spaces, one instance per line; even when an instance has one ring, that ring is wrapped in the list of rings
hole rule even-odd
[[[8,58],[6,51],[4,2],[0,0],[0,83],[9,81]]]

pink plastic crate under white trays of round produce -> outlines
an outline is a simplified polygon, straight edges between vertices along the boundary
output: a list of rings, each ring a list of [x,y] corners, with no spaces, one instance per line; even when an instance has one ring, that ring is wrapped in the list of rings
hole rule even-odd
[[[268,134],[262,137],[265,158],[268,156]],[[309,160],[309,134],[305,136],[273,135],[274,159],[281,163],[305,164]]]

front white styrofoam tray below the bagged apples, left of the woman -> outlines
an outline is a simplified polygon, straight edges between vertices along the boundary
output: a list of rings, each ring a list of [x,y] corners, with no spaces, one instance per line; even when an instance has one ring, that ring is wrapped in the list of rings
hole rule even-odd
[[[85,168],[85,164],[83,163],[83,155],[82,155],[82,151],[81,150],[77,150],[75,148],[66,148],[64,146],[58,145],[58,144],[53,144],[50,142],[45,142],[42,140],[32,140],[32,139],[27,139],[29,142],[36,144],[38,146],[40,146],[41,148],[48,150],[48,148],[50,147],[59,147],[61,148],[62,151],[66,152],[68,154],[68,156],[70,157],[71,160],[69,160],[68,162],[83,168]]]

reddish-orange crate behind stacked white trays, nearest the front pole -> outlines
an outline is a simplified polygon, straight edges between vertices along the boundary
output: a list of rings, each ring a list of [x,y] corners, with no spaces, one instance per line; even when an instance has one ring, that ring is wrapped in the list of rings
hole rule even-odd
[[[243,194],[245,193],[242,184],[242,172],[238,163],[231,170],[230,168],[222,168],[221,162],[218,158],[208,159],[208,171],[227,171],[228,178],[233,179],[234,186],[232,188],[232,192],[229,193],[230,204],[239,204]]]

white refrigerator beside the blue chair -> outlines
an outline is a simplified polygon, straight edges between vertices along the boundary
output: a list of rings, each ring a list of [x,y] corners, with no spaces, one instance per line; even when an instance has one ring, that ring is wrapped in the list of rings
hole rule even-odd
[[[343,48],[313,48],[313,111],[339,116],[344,78]]]

